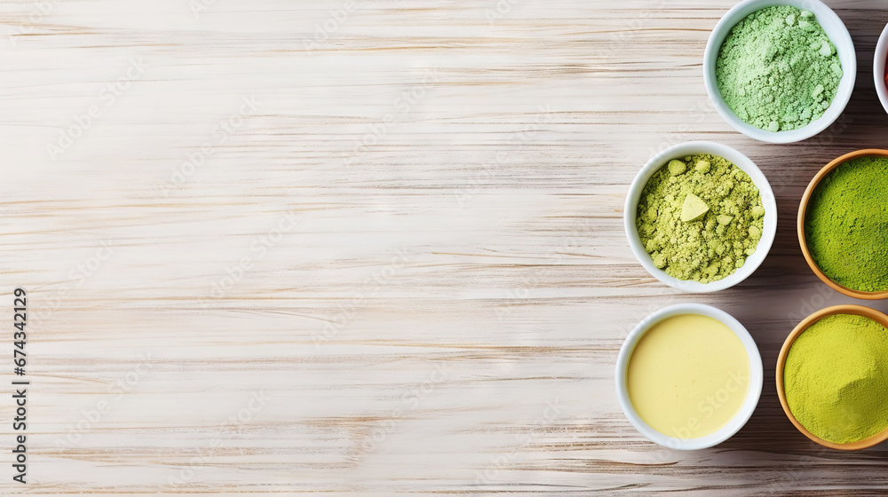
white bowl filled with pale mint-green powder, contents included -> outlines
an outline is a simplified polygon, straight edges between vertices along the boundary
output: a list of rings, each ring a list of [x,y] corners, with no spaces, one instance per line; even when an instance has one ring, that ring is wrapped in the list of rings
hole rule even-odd
[[[819,0],[746,0],[713,30],[704,79],[718,113],[735,129],[790,143],[842,114],[856,57],[842,20]]]

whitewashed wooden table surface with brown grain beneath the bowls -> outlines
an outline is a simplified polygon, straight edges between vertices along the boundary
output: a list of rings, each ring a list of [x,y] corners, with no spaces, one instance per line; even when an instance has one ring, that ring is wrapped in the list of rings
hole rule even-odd
[[[820,450],[773,387],[797,321],[850,301],[797,247],[803,188],[888,145],[888,6],[827,3],[857,91],[788,146],[706,97],[726,0],[0,4],[0,371],[25,288],[31,381],[28,485],[0,397],[0,491],[888,492],[884,447]],[[654,280],[622,232],[637,170],[691,139],[748,154],[780,209],[763,267],[716,295]],[[682,302],[765,361],[748,425],[693,453],[642,438],[613,386],[631,327]]]

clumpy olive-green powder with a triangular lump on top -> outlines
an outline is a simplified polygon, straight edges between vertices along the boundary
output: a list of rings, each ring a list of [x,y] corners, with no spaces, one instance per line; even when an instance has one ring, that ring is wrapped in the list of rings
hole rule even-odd
[[[678,280],[721,280],[762,237],[765,208],[745,172],[716,155],[672,160],[647,181],[638,235],[654,265]]]

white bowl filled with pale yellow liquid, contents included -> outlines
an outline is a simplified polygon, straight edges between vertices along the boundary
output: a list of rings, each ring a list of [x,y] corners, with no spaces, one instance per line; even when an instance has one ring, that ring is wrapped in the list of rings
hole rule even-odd
[[[641,321],[622,344],[616,390],[629,421],[672,449],[716,446],[758,405],[764,372],[740,321],[703,304],[678,304]]]

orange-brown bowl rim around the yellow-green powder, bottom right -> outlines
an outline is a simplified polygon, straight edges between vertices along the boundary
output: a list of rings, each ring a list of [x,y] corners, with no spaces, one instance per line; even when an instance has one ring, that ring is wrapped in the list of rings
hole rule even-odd
[[[875,309],[870,309],[862,305],[834,305],[833,307],[828,307],[826,309],[822,309],[821,311],[814,312],[812,315],[805,318],[805,320],[798,323],[796,329],[792,330],[792,333],[790,333],[789,336],[786,338],[786,342],[783,343],[783,347],[780,350],[780,356],[778,356],[777,358],[777,372],[775,375],[775,378],[777,379],[777,397],[780,398],[780,405],[783,406],[783,412],[786,413],[789,421],[792,422],[792,424],[795,425],[796,428],[801,431],[803,435],[805,435],[805,437],[811,438],[813,441],[817,442],[821,446],[827,446],[831,449],[847,451],[865,449],[867,447],[875,446],[876,444],[880,444],[885,440],[888,440],[888,427],[885,427],[884,430],[876,433],[876,435],[873,435],[872,437],[864,438],[851,444],[836,444],[834,442],[829,442],[814,435],[812,432],[805,430],[805,427],[797,421],[796,416],[792,415],[792,413],[789,412],[789,404],[787,404],[786,402],[786,392],[783,391],[783,367],[786,366],[786,357],[787,355],[789,355],[789,348],[792,347],[792,343],[796,341],[798,335],[804,333],[805,329],[813,325],[813,323],[834,314],[855,314],[858,316],[863,316],[865,318],[873,319],[882,326],[888,327],[888,316],[886,316],[882,312],[876,311]]]

